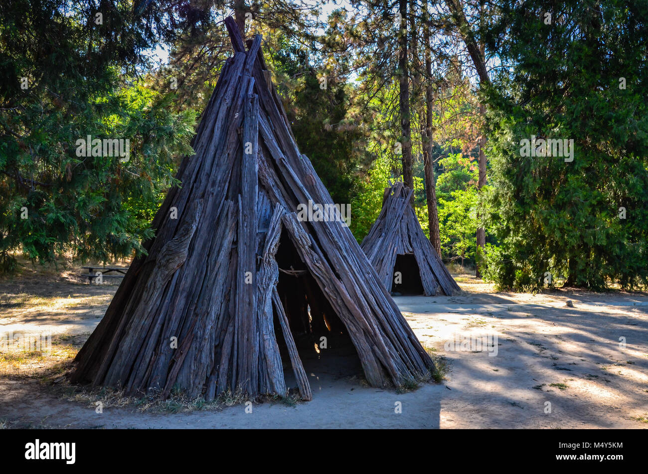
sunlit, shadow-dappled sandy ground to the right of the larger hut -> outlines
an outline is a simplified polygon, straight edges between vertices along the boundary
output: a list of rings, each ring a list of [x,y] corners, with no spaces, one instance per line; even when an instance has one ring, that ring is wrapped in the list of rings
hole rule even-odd
[[[509,298],[395,298],[419,340],[451,361],[441,427],[646,427],[635,418],[648,413],[648,299]],[[496,336],[496,355],[445,350],[471,335]]]

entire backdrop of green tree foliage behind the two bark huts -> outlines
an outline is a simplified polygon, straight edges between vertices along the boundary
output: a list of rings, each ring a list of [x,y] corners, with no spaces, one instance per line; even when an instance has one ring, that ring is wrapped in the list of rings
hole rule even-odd
[[[235,2],[190,3],[1,3],[3,269],[16,265],[14,251],[43,261],[63,252],[105,261],[143,250],[179,158],[191,153],[196,113],[231,52],[218,23]],[[264,34],[262,51],[297,144],[334,201],[351,203],[351,230],[360,241],[380,212],[388,179],[400,175],[394,148],[401,133],[399,49],[395,10],[351,3],[351,11],[332,13],[319,38],[301,0],[248,1],[244,9],[253,13],[248,34]],[[480,8],[464,5],[476,19]],[[420,25],[421,5],[410,6],[410,21]],[[554,281],[564,277],[594,289],[648,284],[645,7],[645,0],[495,2],[473,22],[481,28],[478,42],[497,52],[492,60],[502,65],[491,70],[492,87],[480,87],[479,96],[462,72],[461,45],[448,30],[443,5],[432,8],[430,21],[433,77],[422,74],[420,32],[408,29],[415,212],[427,234],[417,157],[422,92],[432,80],[432,155],[446,260],[474,262],[476,227],[485,225],[491,243],[483,273],[498,288],[535,290],[547,271]],[[94,21],[98,10],[101,25]],[[170,46],[170,62],[152,69],[146,52],[158,42]],[[170,89],[171,78],[177,90]],[[482,100],[489,113],[489,186],[477,192]],[[87,135],[129,139],[130,159],[78,156],[76,141]],[[573,161],[520,156],[520,140],[531,135],[573,139]]]

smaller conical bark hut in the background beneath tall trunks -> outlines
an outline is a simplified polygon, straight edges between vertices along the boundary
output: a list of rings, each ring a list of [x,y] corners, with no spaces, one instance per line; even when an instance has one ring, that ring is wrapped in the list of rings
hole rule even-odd
[[[385,189],[382,210],[360,247],[387,291],[452,295],[459,291],[411,209],[412,191],[400,181]]]

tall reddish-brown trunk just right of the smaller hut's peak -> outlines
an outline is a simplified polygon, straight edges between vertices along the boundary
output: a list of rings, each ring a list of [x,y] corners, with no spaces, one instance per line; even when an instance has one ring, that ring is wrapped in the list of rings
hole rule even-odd
[[[428,24],[428,0],[423,0],[423,42],[425,48],[425,128],[421,133],[423,148],[423,167],[425,172],[425,197],[428,202],[428,225],[430,242],[437,254],[441,256],[441,236],[439,234],[439,211],[437,210],[437,190],[434,182],[434,159],[432,145],[434,144],[434,126],[432,124],[434,104],[434,84],[432,82],[432,53],[430,52],[430,25]]]

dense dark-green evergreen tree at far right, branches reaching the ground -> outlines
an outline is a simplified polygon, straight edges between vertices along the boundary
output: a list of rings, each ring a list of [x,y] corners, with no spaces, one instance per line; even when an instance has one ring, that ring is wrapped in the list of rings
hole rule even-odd
[[[648,9],[641,3],[530,1],[504,10],[484,32],[510,64],[487,95],[492,170],[484,210],[499,243],[486,251],[485,277],[500,288],[540,288],[546,271],[592,289],[648,283]],[[522,157],[520,140],[531,135],[573,139],[573,161]]]

